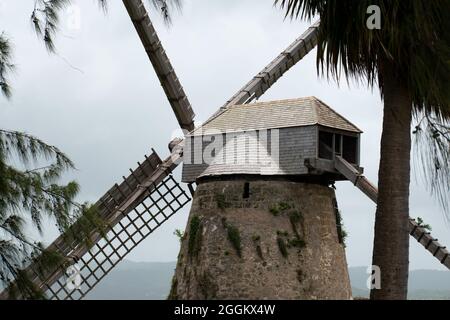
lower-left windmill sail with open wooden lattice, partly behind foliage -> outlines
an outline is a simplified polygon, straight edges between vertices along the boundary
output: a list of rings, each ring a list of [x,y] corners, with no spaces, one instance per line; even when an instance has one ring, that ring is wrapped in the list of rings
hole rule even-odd
[[[186,205],[190,198],[171,175],[180,160],[180,150],[165,161],[153,152],[136,170],[130,170],[120,185],[114,185],[96,203],[107,224],[106,237],[92,230],[88,244],[68,243],[61,235],[49,248],[65,257],[65,262],[45,274],[37,272],[37,265],[30,265],[26,272],[33,284],[49,299],[83,298],[131,250]],[[78,280],[67,277],[68,264],[69,269],[76,270]],[[7,298],[5,290],[0,299]]]

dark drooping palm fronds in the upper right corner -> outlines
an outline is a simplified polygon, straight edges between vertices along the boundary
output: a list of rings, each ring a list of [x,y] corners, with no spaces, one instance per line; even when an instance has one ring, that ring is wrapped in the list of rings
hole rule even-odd
[[[450,2],[446,0],[276,0],[291,17],[320,17],[317,67],[377,83],[382,59],[408,84],[417,110],[450,113]],[[367,28],[367,8],[381,9],[381,30]]]

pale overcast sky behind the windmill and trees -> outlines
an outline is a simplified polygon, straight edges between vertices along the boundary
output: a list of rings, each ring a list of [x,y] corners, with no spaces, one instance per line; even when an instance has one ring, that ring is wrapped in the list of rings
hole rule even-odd
[[[0,0],[0,31],[14,42],[18,71],[13,99],[0,97],[0,126],[26,131],[66,152],[77,166],[71,175],[80,201],[95,202],[128,168],[155,148],[161,158],[177,129],[175,116],[121,1],[110,0],[105,16],[96,1],[73,0],[80,27],[63,16],[58,55],[48,55],[29,23],[34,1]],[[152,20],[197,114],[206,120],[218,107],[284,50],[308,23],[284,20],[272,0],[185,0],[168,28],[149,8]],[[78,70],[79,69],[79,70]],[[262,101],[316,96],[364,131],[361,164],[376,183],[382,124],[378,90],[340,87],[317,76],[315,51],[293,67]],[[420,164],[419,164],[420,165]],[[180,175],[180,169],[176,174]],[[371,264],[375,206],[350,182],[337,184],[349,233],[350,266]],[[432,225],[433,235],[450,245],[444,212],[420,180],[411,190],[411,216]],[[174,261],[175,229],[184,229],[188,208],[152,234],[127,258]],[[53,234],[54,233],[50,233]],[[395,244],[393,244],[395,245]],[[411,241],[411,269],[443,269]]]

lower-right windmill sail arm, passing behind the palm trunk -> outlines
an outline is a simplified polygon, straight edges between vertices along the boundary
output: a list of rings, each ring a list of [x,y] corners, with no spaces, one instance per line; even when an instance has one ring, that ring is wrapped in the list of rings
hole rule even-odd
[[[336,170],[344,177],[353,182],[365,195],[367,195],[373,202],[377,203],[378,189],[364,177],[358,170],[356,170],[350,163],[342,157],[336,157]],[[433,238],[425,228],[420,226],[414,219],[409,220],[409,232],[414,239],[416,239],[422,246],[425,247],[436,259],[444,266],[450,269],[449,251],[441,245],[437,239]]]

